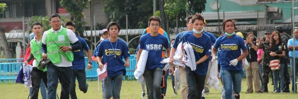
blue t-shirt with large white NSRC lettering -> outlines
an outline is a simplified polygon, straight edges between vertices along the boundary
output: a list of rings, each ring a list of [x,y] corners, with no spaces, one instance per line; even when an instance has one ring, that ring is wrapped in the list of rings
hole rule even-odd
[[[163,68],[161,53],[162,47],[165,49],[169,48],[169,44],[165,36],[158,34],[155,37],[152,37],[149,33],[145,34],[140,39],[140,49],[147,50],[148,59],[146,63],[146,70],[154,70],[157,67]]]

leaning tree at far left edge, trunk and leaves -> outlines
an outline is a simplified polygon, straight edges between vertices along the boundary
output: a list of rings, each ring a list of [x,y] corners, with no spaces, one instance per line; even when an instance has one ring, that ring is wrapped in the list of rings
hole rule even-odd
[[[2,14],[5,10],[6,4],[5,3],[0,3],[0,14]],[[5,58],[11,58],[11,51],[9,50],[8,47],[8,42],[6,40],[4,28],[0,26],[0,38],[1,38],[1,44],[4,49],[4,56]]]

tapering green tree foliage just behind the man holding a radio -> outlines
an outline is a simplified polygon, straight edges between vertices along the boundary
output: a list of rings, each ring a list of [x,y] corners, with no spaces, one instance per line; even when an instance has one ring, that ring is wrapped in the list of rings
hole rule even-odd
[[[61,6],[71,13],[71,20],[75,23],[75,31],[79,36],[83,37],[83,31],[85,30],[82,25],[85,22],[82,21],[84,17],[83,10],[87,8],[89,0],[60,0]],[[75,33],[75,34],[77,34]]]

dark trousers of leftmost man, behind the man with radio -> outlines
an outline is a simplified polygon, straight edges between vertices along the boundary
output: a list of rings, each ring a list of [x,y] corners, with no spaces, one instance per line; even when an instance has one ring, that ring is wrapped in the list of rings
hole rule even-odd
[[[37,69],[36,67],[33,67],[31,71],[31,80],[32,80],[32,96],[31,99],[38,99],[38,92],[40,88],[40,81],[41,79],[46,85],[47,88],[47,72],[44,72],[42,70]]]

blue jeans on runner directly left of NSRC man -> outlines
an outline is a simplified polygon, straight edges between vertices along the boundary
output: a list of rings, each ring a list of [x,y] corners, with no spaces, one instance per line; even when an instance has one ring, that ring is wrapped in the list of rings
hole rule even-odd
[[[123,74],[116,76],[108,76],[102,80],[103,83],[103,99],[120,99],[120,91],[122,86]]]

